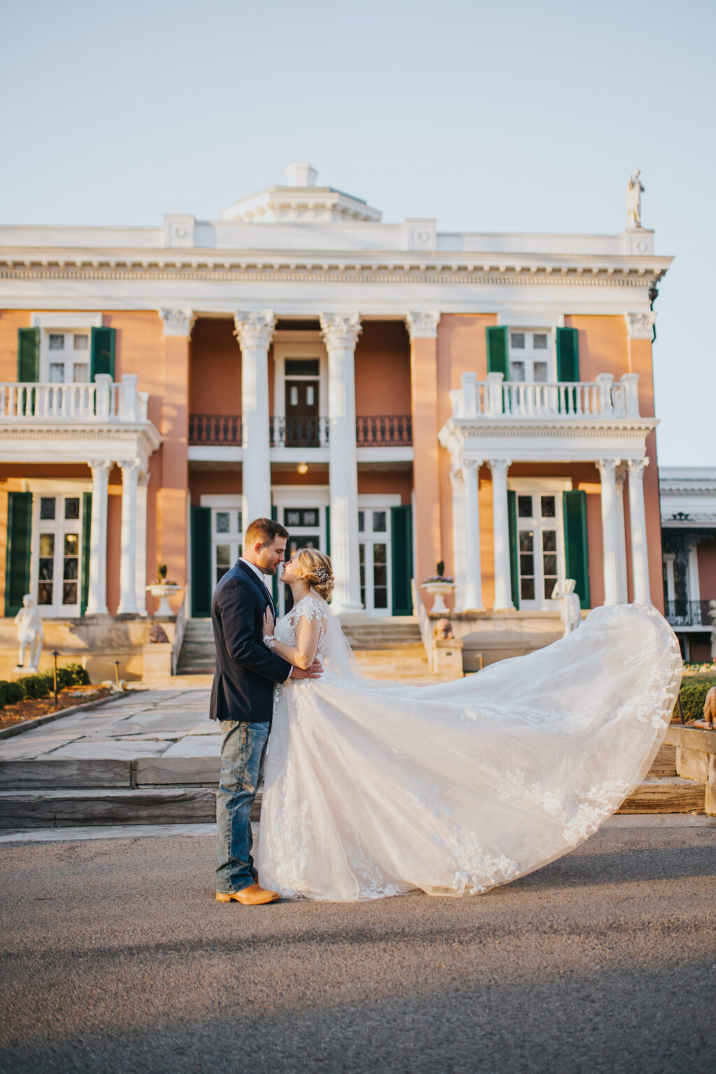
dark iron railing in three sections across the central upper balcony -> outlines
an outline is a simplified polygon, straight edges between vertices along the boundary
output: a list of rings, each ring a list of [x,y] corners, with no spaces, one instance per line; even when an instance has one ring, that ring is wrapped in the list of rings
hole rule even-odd
[[[269,419],[272,448],[324,448],[330,442],[330,419],[275,417]],[[412,445],[410,415],[377,415],[355,419],[355,442],[360,448],[393,448]],[[190,413],[192,447],[240,447],[242,417],[230,413]]]

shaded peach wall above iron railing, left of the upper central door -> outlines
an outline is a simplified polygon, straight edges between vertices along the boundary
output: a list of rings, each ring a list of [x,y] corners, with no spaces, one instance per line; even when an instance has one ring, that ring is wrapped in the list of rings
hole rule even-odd
[[[268,366],[271,368],[272,362]],[[189,346],[191,413],[242,412],[242,352],[229,318],[200,317]]]

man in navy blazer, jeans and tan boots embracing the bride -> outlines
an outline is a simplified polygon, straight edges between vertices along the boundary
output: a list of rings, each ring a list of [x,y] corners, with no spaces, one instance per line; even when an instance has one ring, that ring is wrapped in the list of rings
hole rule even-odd
[[[211,597],[216,674],[209,715],[221,721],[221,779],[217,794],[218,902],[260,905],[278,899],[260,887],[251,857],[250,812],[263,766],[274,708],[274,683],[317,679],[321,665],[292,667],[263,643],[266,610],[276,608],[263,580],[283,562],[288,529],[255,519],[244,538],[244,555]]]

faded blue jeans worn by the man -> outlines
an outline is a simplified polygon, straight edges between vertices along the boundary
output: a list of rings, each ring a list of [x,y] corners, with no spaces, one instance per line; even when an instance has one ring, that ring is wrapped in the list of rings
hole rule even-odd
[[[255,884],[249,814],[266,755],[271,724],[223,720],[221,730],[221,778],[216,798],[216,889],[229,895]]]

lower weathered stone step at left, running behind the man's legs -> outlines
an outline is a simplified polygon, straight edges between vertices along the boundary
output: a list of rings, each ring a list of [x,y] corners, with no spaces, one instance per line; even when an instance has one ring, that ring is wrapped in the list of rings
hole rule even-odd
[[[258,821],[259,799],[251,811]],[[207,824],[216,819],[209,787],[136,790],[3,790],[0,829],[97,824]]]

